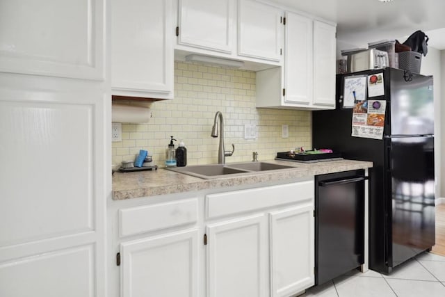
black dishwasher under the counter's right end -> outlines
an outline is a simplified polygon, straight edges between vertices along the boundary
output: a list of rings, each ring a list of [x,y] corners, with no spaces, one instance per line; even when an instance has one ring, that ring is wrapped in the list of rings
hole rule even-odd
[[[364,170],[315,177],[315,284],[364,264]]]

